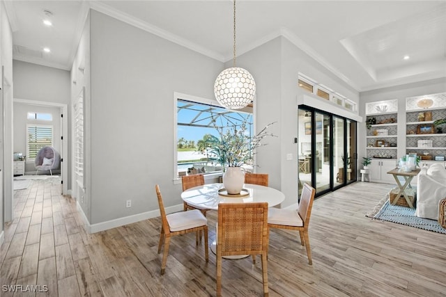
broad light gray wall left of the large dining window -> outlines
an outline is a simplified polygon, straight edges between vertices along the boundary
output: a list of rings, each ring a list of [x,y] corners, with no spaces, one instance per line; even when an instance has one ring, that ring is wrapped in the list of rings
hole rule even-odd
[[[213,97],[222,63],[91,10],[91,224],[182,204],[174,92]],[[125,208],[125,201],[132,207]]]

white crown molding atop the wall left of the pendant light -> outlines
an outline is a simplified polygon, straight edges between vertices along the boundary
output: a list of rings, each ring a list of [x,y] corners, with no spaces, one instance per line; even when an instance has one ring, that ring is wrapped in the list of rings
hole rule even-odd
[[[224,63],[224,56],[218,54],[217,52],[211,51],[210,49],[206,49],[206,47],[201,47],[201,45],[197,45],[196,43],[191,42],[190,40],[187,40],[187,39],[182,38],[178,35],[170,33],[170,32],[168,32],[164,29],[161,29],[157,26],[148,24],[147,22],[144,22],[141,19],[138,19],[137,17],[133,17],[131,15],[128,15],[127,13],[123,13],[120,10],[116,10],[115,8],[112,8],[112,7],[108,6],[107,4],[92,1],[92,2],[90,2],[90,8],[97,10],[100,13],[104,13],[105,15],[108,15],[109,17],[114,17],[115,19],[118,19],[121,22],[125,22],[125,23],[135,26],[141,30],[147,31],[154,35],[157,35],[160,38],[164,38],[166,40],[174,42],[177,45],[181,45],[183,47],[186,47],[187,49],[191,49],[192,51],[197,51],[200,54],[203,54],[210,58],[214,58],[215,60]]]

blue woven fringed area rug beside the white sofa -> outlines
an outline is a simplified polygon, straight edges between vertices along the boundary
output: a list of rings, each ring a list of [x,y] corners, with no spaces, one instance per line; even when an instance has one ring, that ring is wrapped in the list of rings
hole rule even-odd
[[[437,220],[419,218],[415,216],[415,209],[392,205],[389,202],[388,196],[381,200],[377,207],[379,207],[380,204],[383,206],[376,214],[374,214],[374,211],[372,211],[366,216],[376,220],[386,220],[387,222],[398,223],[410,227],[446,234],[446,229],[441,227]]]

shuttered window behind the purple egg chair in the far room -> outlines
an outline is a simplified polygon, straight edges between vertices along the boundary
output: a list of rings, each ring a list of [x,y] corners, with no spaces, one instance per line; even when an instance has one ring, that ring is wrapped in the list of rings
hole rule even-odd
[[[42,147],[53,146],[52,125],[26,125],[26,159],[34,161]]]

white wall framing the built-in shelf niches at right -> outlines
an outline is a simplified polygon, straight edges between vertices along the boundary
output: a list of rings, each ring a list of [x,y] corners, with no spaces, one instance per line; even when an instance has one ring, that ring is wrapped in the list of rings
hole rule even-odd
[[[365,104],[381,100],[398,99],[398,152],[397,156],[406,154],[406,97],[429,95],[446,92],[446,78],[408,83],[401,86],[381,88],[360,93],[360,114],[365,120]],[[367,127],[365,123],[357,127],[358,160],[366,156]],[[362,136],[362,137],[361,137]]]

